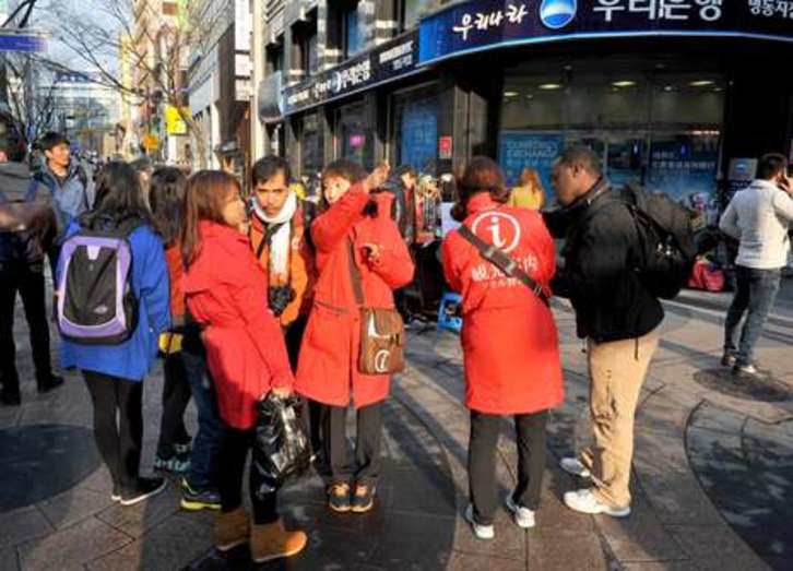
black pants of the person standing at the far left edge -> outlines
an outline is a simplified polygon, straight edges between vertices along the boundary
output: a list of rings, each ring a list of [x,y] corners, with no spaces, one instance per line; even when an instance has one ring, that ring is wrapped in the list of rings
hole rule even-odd
[[[0,382],[7,394],[20,394],[14,343],[14,305],[16,293],[22,297],[25,319],[31,333],[33,364],[39,386],[52,377],[49,357],[49,323],[45,301],[42,265],[7,264],[0,270]]]

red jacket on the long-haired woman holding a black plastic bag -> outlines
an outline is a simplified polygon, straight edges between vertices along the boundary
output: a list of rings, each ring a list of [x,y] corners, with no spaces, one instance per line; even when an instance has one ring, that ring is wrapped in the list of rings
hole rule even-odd
[[[252,428],[255,404],[272,386],[291,386],[281,326],[267,306],[267,277],[248,238],[206,221],[198,257],[185,272],[187,307],[204,325],[206,364],[223,420]]]

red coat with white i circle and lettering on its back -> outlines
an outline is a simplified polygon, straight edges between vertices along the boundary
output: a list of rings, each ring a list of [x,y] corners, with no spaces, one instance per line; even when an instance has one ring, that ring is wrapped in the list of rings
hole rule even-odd
[[[555,249],[540,214],[474,195],[464,224],[498,246],[546,290]],[[443,273],[462,294],[465,404],[489,414],[544,411],[564,400],[559,342],[551,309],[525,285],[507,278],[459,233],[443,241]]]

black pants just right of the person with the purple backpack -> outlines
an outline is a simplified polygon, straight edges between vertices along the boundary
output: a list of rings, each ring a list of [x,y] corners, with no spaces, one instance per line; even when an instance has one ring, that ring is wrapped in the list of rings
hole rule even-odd
[[[185,409],[190,402],[191,392],[180,353],[171,353],[165,358],[163,372],[163,417],[159,423],[157,455],[168,460],[176,453],[176,444],[190,443],[190,435],[185,428]]]

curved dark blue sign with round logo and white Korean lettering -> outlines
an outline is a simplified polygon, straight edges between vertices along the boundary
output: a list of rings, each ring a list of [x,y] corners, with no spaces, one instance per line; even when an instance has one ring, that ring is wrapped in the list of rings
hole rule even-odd
[[[422,21],[418,62],[499,45],[663,35],[793,41],[793,5],[790,0],[471,0]]]

